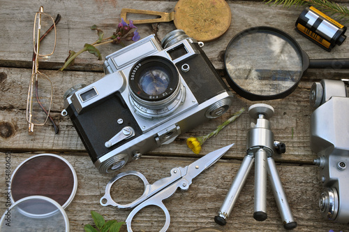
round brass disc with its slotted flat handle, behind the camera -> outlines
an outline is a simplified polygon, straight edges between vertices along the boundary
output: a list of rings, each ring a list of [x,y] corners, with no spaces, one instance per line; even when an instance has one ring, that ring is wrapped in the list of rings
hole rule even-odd
[[[136,18],[137,15],[157,17],[133,20],[134,24],[173,21],[177,29],[182,29],[189,37],[202,42],[213,41],[222,36],[232,22],[230,6],[224,0],[179,0],[171,13],[123,8],[121,18],[128,23],[127,13]]]

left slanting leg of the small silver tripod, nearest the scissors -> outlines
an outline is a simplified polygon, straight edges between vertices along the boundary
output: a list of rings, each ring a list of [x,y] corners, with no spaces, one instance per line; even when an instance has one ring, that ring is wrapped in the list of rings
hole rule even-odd
[[[232,208],[237,201],[237,197],[239,196],[242,187],[244,187],[247,175],[251,171],[252,165],[253,155],[247,154],[242,160],[239,171],[237,171],[237,175],[235,175],[235,178],[232,181],[232,186],[230,187],[227,196],[225,196],[223,205],[218,211],[218,216],[214,217],[214,222],[216,222],[216,224],[224,226],[227,223],[226,219],[229,217],[230,212],[232,212]]]

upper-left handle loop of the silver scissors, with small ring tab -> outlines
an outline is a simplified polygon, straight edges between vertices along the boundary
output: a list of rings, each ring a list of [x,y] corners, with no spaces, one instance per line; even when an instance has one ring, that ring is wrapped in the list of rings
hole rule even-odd
[[[112,184],[114,184],[114,182],[117,182],[117,180],[121,179],[122,177],[125,177],[126,175],[135,175],[140,177],[140,179],[143,181],[144,183],[144,192],[142,194],[142,196],[140,196],[140,198],[136,199],[135,201],[122,205],[119,203],[116,203],[112,197],[110,196],[110,189],[112,188]],[[117,208],[121,208],[121,209],[128,209],[128,208],[133,208],[135,205],[138,205],[138,203],[140,202],[141,199],[144,198],[144,196],[146,196],[147,193],[147,187],[149,187],[149,182],[147,180],[146,177],[144,177],[144,175],[138,171],[127,171],[124,173],[119,173],[118,175],[116,175],[114,178],[112,178],[112,180],[110,180],[110,182],[107,183],[107,186],[105,187],[105,195],[102,196],[100,203],[103,206],[107,206],[107,205],[112,205],[112,206],[116,206]]]

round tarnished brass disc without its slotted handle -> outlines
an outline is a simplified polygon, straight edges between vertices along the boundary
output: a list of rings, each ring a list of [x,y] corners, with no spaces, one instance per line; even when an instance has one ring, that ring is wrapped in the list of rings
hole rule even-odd
[[[213,41],[230,27],[232,13],[224,0],[180,0],[174,7],[174,25],[197,41]]]

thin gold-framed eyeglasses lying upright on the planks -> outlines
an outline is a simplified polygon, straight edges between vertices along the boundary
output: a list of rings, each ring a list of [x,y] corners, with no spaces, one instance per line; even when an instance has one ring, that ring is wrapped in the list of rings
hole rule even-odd
[[[31,80],[29,83],[27,97],[27,122],[29,123],[29,134],[34,133],[34,126],[43,126],[47,119],[50,119],[54,126],[54,133],[59,129],[54,119],[50,116],[52,105],[52,82],[45,75],[38,71],[38,60],[50,57],[56,48],[56,24],[61,19],[57,15],[56,20],[50,15],[43,12],[43,6],[35,14],[33,29],[33,69],[31,71]],[[52,25],[51,25],[52,24]],[[51,26],[50,26],[51,25]],[[50,31],[54,29],[54,35]],[[46,31],[40,36],[40,31]],[[49,35],[50,34],[50,35]],[[43,41],[43,38],[46,38]],[[41,44],[40,44],[41,43]]]

